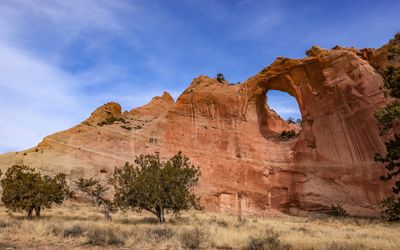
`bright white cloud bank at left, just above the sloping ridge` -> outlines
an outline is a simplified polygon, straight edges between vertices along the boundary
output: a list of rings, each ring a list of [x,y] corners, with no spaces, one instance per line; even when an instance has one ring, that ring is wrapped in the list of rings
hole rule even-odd
[[[33,147],[44,136],[81,122],[105,102],[117,101],[131,109],[162,94],[162,89],[123,85],[110,93],[90,95],[81,87],[112,80],[120,71],[111,67],[72,75],[1,41],[0,55],[0,153]]]

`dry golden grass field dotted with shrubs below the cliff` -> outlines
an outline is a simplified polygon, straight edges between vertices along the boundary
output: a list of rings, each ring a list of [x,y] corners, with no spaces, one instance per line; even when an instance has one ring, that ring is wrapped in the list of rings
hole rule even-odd
[[[260,248],[263,245],[264,248]],[[400,224],[357,218],[273,218],[209,212],[116,214],[74,202],[25,219],[0,207],[0,249],[400,249]],[[257,248],[259,247],[259,248]]]

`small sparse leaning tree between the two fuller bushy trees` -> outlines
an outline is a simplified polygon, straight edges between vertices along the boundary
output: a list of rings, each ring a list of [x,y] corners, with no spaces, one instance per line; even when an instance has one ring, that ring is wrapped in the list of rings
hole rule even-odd
[[[108,187],[104,187],[98,180],[80,178],[75,182],[78,189],[88,195],[93,202],[101,208],[101,213],[106,219],[111,220],[111,215],[117,211],[115,203],[106,197]]]

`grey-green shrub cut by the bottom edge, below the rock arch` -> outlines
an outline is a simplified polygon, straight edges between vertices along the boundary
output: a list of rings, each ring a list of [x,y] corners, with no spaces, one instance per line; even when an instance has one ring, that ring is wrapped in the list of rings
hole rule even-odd
[[[279,240],[279,234],[268,231],[265,236],[250,238],[246,250],[288,250],[290,245]]]

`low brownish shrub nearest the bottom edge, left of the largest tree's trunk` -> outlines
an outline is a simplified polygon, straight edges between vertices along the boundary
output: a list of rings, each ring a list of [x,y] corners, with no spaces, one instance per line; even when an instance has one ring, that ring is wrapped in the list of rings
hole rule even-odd
[[[87,243],[90,245],[123,245],[124,235],[116,229],[92,228],[87,232]]]

